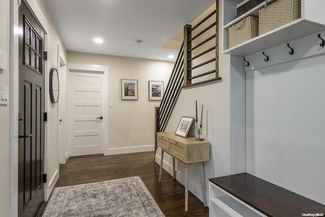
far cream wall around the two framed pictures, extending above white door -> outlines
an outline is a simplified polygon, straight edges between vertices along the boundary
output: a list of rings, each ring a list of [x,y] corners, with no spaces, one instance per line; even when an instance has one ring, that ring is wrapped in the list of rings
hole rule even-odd
[[[149,101],[148,81],[164,81],[166,88],[174,64],[120,56],[68,52],[69,63],[109,67],[109,142],[105,154],[154,150],[154,107]],[[121,100],[121,79],[138,80],[138,100]]]

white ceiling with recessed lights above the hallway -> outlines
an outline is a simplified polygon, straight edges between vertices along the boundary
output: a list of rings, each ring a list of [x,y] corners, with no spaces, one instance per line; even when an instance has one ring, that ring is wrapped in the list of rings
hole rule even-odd
[[[179,51],[164,46],[215,0],[43,2],[68,51],[175,61]],[[104,42],[96,44],[94,38]],[[175,57],[168,58],[170,54]]]

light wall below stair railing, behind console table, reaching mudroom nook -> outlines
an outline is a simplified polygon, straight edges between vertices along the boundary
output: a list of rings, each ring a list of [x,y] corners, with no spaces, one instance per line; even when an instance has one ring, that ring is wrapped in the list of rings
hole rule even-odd
[[[222,23],[222,1],[219,25]],[[221,36],[221,28],[219,28]],[[219,38],[219,44],[222,42]],[[211,58],[211,57],[210,57]],[[175,132],[182,116],[195,117],[195,101],[201,112],[203,104],[203,138],[210,142],[210,161],[205,162],[205,181],[223,175],[245,172],[245,73],[243,58],[221,54],[219,46],[220,81],[213,81],[181,90],[165,131]],[[196,136],[196,135],[189,135]],[[160,164],[160,148],[156,162]],[[163,167],[172,174],[172,158],[164,155]],[[184,180],[184,164],[177,164],[177,180]],[[189,191],[203,201],[198,165],[189,166]],[[207,189],[207,197],[208,189]]]

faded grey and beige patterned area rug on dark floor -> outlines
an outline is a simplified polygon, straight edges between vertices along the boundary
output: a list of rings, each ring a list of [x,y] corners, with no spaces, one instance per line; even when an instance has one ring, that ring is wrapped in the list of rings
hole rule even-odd
[[[55,188],[43,216],[165,216],[139,176]]]

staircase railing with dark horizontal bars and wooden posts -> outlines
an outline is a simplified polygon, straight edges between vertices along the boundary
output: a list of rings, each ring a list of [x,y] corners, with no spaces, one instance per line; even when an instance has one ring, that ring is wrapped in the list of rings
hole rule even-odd
[[[184,41],[182,43],[182,46],[179,50],[173,72],[171,74],[171,77],[169,79],[168,85],[166,87],[165,95],[163,97],[163,100],[160,103],[159,107],[155,107],[155,133],[156,132],[163,132],[165,131],[168,119],[173,111],[173,108],[176,104],[179,92],[181,91],[182,87],[186,86],[192,86],[199,83],[205,83],[213,80],[219,80],[221,79],[219,77],[219,65],[218,65],[218,8],[219,8],[219,0],[216,0],[216,10],[211,12],[207,17],[205,17],[202,21],[200,21],[197,25],[194,27],[191,27],[191,25],[185,25],[184,26]],[[215,15],[216,19],[213,19],[213,16]],[[209,19],[211,18],[211,19]],[[209,21],[207,21],[209,20]],[[192,37],[193,30],[198,28],[203,23],[211,22],[212,24],[205,24],[205,27],[201,32],[197,33],[195,36]],[[205,38],[205,36],[201,37],[203,34],[207,33],[209,29],[215,27],[215,32],[213,32],[212,36]],[[198,32],[199,28],[196,32]],[[208,32],[207,34],[210,34]],[[206,35],[207,35],[206,34]],[[200,38],[199,38],[200,37]],[[204,39],[202,39],[204,38]],[[213,43],[211,40],[215,39],[215,44],[213,46],[209,45]],[[194,44],[193,41],[196,40],[197,42]],[[208,43],[209,42],[209,43]],[[193,46],[192,46],[193,45]],[[192,56],[192,53],[195,49],[200,47],[200,53]],[[206,48],[208,47],[208,48]],[[204,50],[205,49],[205,50]],[[211,54],[214,52],[213,58],[211,58]],[[208,54],[208,55],[206,55]],[[202,56],[206,55],[204,58]],[[195,63],[194,66],[193,60],[197,60],[197,58],[201,57],[201,60],[203,59],[203,63]],[[208,60],[206,60],[208,59]],[[198,69],[200,67],[203,67],[207,64],[213,63],[215,61],[215,68],[213,67],[213,70],[209,70],[208,72],[200,72],[204,69],[200,70],[199,73],[193,73],[194,69]],[[198,62],[198,61],[197,61]],[[215,76],[213,78],[206,77],[197,81],[196,83],[193,83],[193,79],[204,77],[207,75],[210,75],[212,73],[215,73]],[[155,149],[157,148],[157,138],[155,135]]]

